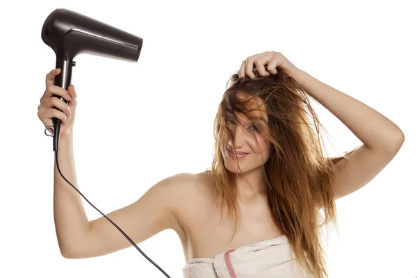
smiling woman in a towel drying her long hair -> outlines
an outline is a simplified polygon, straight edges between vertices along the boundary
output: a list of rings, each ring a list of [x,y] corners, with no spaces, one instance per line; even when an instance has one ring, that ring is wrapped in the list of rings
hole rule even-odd
[[[59,165],[76,186],[76,92],[73,85],[68,90],[54,85],[59,73],[47,74],[38,116],[45,126],[52,125],[52,117],[63,120]],[[372,180],[398,152],[404,134],[373,108],[314,79],[279,52],[243,60],[230,82],[215,118],[211,170],[167,177],[108,217],[135,243],[174,229],[187,262],[184,277],[220,272],[229,275],[224,277],[298,277],[297,266],[304,270],[300,277],[327,277],[320,227],[336,224],[335,200]],[[345,156],[325,157],[309,97],[363,145]],[[54,218],[66,258],[101,256],[131,245],[104,217],[88,220],[81,197],[56,165]]]

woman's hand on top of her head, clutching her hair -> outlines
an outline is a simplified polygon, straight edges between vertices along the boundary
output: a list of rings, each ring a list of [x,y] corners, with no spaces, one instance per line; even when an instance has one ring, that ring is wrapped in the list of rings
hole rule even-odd
[[[293,76],[295,80],[300,79],[300,73],[302,73],[302,70],[295,67],[295,65],[293,65],[293,63],[291,63],[283,54],[281,54],[281,52],[266,51],[261,54],[249,56],[246,58],[246,60],[243,60],[242,66],[240,67],[238,73],[239,77],[243,77],[246,74],[250,77],[250,79],[254,79],[254,64],[256,70],[261,76],[277,74],[276,67],[283,67],[284,70],[286,70],[289,75]],[[268,71],[265,70],[265,65],[268,65],[266,68]]]

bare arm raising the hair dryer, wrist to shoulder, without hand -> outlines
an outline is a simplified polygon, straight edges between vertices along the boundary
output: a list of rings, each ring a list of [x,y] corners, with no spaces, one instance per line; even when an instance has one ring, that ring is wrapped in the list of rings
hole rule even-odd
[[[60,140],[58,163],[64,177],[76,186],[72,138]],[[136,244],[165,229],[181,229],[175,211],[181,190],[193,174],[177,174],[156,183],[136,202],[106,214]],[[61,254],[68,259],[102,256],[132,246],[104,216],[88,221],[81,196],[55,166],[54,218]],[[78,187],[77,187],[78,188]]]

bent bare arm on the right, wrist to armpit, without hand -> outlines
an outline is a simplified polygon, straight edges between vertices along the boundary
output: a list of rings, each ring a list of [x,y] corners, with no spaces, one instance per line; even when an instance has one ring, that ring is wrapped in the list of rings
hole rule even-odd
[[[349,195],[371,181],[398,153],[404,133],[381,113],[306,72],[294,75],[306,92],[335,115],[363,145],[334,166],[336,197]]]

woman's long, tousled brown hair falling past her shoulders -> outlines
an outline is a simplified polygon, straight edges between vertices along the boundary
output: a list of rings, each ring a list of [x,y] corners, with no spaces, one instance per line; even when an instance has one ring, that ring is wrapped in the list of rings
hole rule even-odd
[[[231,76],[215,117],[215,152],[210,172],[216,202],[221,199],[222,207],[225,203],[230,208],[236,232],[237,186],[234,173],[226,169],[221,152],[230,140],[234,143],[234,133],[225,120],[226,111],[242,113],[256,124],[259,121],[253,117],[254,110],[248,108],[248,104],[261,99],[266,107],[268,126],[257,124],[256,127],[270,142],[270,157],[263,164],[263,173],[272,217],[304,269],[314,277],[328,277],[325,252],[320,245],[320,227],[326,224],[328,228],[328,224],[333,223],[337,229],[332,165],[346,159],[347,154],[334,158],[324,156],[320,138],[322,125],[311,107],[311,97],[286,70],[277,67],[277,74],[260,76],[255,69],[254,74],[254,79],[239,78],[237,72]],[[236,97],[239,92],[250,98]],[[308,116],[313,122],[309,122]],[[240,170],[239,165],[238,168]]]

